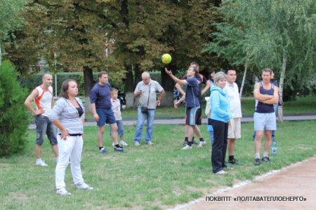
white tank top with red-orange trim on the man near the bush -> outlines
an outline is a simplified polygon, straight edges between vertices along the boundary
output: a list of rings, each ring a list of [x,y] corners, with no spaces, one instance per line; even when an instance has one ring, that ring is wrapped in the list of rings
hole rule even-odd
[[[43,90],[41,86],[35,87],[35,90],[39,93],[35,99],[37,110],[44,109],[42,116],[48,117],[51,112],[51,100],[53,99],[53,87],[49,86],[48,90]]]

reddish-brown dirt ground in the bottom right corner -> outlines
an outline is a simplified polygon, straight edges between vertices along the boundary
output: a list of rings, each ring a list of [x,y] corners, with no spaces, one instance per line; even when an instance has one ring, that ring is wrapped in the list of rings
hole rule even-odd
[[[175,209],[316,209],[316,156]]]

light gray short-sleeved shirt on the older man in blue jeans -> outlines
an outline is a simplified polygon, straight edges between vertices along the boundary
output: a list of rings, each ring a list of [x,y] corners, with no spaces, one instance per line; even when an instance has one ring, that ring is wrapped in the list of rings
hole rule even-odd
[[[145,85],[143,81],[140,81],[137,84],[134,93],[140,92],[140,90],[142,94],[138,98],[138,106],[147,106],[148,94],[150,93],[150,99],[147,107],[148,109],[156,109],[157,94],[164,90],[162,85],[159,85],[159,83],[155,80],[150,80],[149,85]]]

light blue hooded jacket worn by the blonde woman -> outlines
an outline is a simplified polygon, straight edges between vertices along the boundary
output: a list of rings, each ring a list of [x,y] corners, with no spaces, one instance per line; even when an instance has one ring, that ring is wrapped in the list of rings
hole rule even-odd
[[[213,85],[211,87],[211,119],[227,123],[232,118],[230,112],[230,102],[225,91]]]

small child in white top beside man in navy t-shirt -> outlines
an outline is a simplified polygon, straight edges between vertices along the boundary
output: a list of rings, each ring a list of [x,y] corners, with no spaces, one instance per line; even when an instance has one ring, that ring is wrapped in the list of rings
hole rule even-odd
[[[123,119],[121,118],[121,102],[119,102],[119,99],[117,99],[119,91],[115,88],[111,88],[111,104],[112,104],[112,110],[114,112],[115,120],[117,120],[117,132],[119,133],[119,145],[120,146],[129,146],[124,141],[124,125],[123,125]],[[111,134],[111,129],[110,129]],[[112,144],[114,146],[114,143]]]

